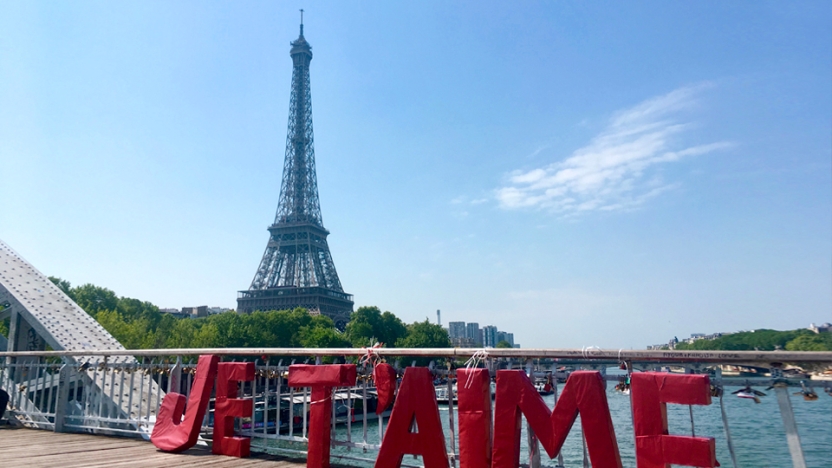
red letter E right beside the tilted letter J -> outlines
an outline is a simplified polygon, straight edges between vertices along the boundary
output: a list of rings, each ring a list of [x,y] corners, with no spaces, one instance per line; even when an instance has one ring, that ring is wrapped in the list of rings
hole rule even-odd
[[[251,400],[237,398],[237,382],[254,380],[253,362],[222,362],[217,371],[217,399],[214,404],[214,444],[217,455],[245,458],[251,440],[234,437],[234,418],[252,416]]]

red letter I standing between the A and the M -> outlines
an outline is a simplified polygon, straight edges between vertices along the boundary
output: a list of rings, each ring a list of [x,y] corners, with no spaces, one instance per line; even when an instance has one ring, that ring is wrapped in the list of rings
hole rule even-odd
[[[459,466],[491,466],[491,376],[488,369],[459,369]]]

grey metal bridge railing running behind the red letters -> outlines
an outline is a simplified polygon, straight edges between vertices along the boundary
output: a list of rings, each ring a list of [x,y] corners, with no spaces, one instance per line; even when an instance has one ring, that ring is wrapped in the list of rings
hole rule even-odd
[[[252,400],[254,409],[250,417],[237,420],[237,434],[251,438],[253,451],[304,455],[311,392],[309,388],[287,386],[289,365],[320,364],[323,360],[357,362],[367,353],[366,349],[352,348],[0,352],[0,388],[10,394],[6,418],[13,424],[58,432],[149,438],[165,393],[173,391],[189,395],[198,355],[216,354],[224,361],[254,361],[255,379],[241,382],[238,391],[240,398]],[[464,367],[466,360],[475,354],[480,358],[479,365],[489,368],[492,373],[498,369],[523,369],[533,380],[535,376],[551,378],[555,398],[558,382],[565,381],[572,371],[579,369],[599,370],[607,381],[619,382],[622,387],[628,372],[708,374],[715,395],[720,396],[724,436],[733,466],[737,466],[734,443],[721,398],[723,393],[729,393],[728,389],[771,387],[774,390],[786,445],[792,465],[797,468],[807,465],[790,393],[800,388],[804,397],[810,399],[807,395],[817,395],[814,389],[819,388],[832,396],[832,380],[807,381],[805,375],[789,373],[790,364],[816,370],[830,369],[832,352],[382,348],[373,349],[372,353],[395,363],[399,376],[404,370],[403,365],[411,365],[416,359],[430,360],[429,366],[436,377],[437,396],[447,401],[443,426],[452,466],[456,466],[458,459],[458,434],[454,424],[458,414],[453,398],[455,370]],[[133,356],[136,361],[124,356]],[[468,361],[468,365],[471,364],[472,361]],[[759,375],[723,375],[724,366],[753,367]],[[380,448],[390,410],[376,416],[376,394],[371,375],[371,366],[359,364],[357,385],[333,391],[333,460],[371,464]],[[442,413],[445,413],[444,406]],[[202,443],[210,443],[212,425],[213,414],[209,411],[203,422]],[[709,435],[716,437],[719,434]],[[832,440],[832,433],[829,439]],[[530,453],[529,464],[539,466],[540,452],[533,437],[524,439],[524,445]],[[556,461],[557,466],[563,466],[562,456]],[[726,465],[724,461],[723,465]],[[405,466],[421,466],[421,462],[407,458]]]

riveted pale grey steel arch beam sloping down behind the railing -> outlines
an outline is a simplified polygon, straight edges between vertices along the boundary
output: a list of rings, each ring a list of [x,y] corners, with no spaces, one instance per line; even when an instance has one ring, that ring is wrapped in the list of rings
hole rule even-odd
[[[105,366],[101,371],[96,367],[103,362],[118,367],[136,365],[132,356],[104,357],[101,351],[125,349],[118,340],[104,329],[93,317],[86,313],[49,278],[17,254],[5,242],[0,240],[0,320],[9,318],[9,336],[0,335],[0,351],[42,351],[46,347],[54,350],[89,351],[89,355],[64,357],[67,371],[72,371],[74,378],[87,388],[87,398],[101,402],[99,408],[107,408],[107,414],[125,420],[137,419],[140,415],[156,414],[163,392],[150,376],[140,375],[131,381],[132,385],[122,383],[122,379],[109,376],[115,367]],[[63,425],[63,421],[44,422],[43,418],[32,416],[36,409],[48,413],[48,408],[37,408],[34,402],[38,392],[45,392],[47,385],[45,368],[31,364],[41,361],[38,357],[6,358],[5,366],[0,365],[0,386],[25,388],[16,395],[19,409],[26,414],[28,424],[52,427]],[[38,369],[38,375],[15,375],[15,369],[21,365],[29,370]],[[63,372],[62,372],[63,373]],[[58,385],[54,380],[53,387]],[[31,385],[31,382],[41,382]],[[14,387],[14,388],[12,388]],[[148,394],[157,395],[156,400],[142,399],[133,401],[126,398],[130,393],[140,393],[140,389],[150,388]],[[121,397],[121,398],[119,398]],[[129,402],[129,403],[128,403]],[[155,404],[154,404],[155,403]],[[148,406],[151,406],[148,408]],[[56,412],[57,413],[57,412]],[[14,415],[14,408],[10,414]],[[64,415],[56,414],[55,419]],[[83,415],[82,415],[83,416]],[[11,418],[10,418],[11,419]],[[21,419],[21,418],[17,418]]]

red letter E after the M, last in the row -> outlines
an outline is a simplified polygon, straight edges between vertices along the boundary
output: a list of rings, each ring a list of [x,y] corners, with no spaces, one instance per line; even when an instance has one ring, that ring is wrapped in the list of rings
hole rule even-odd
[[[682,437],[667,433],[667,403],[711,404],[707,375],[639,372],[630,378],[638,468],[670,468],[670,464],[719,466],[712,437]]]

